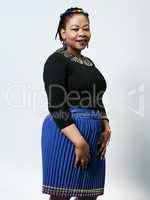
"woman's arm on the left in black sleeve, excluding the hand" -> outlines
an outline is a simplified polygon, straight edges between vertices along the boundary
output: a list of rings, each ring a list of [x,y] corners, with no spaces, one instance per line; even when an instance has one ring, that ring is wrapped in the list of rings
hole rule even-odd
[[[60,130],[75,146],[85,140],[71,118],[66,102],[66,63],[58,54],[52,54],[44,65],[43,80],[48,99],[48,110]]]

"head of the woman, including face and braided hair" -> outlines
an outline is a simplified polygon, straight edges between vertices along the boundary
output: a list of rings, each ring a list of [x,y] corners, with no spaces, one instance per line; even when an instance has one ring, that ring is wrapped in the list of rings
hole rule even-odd
[[[91,37],[90,22],[88,13],[82,9],[72,10],[61,15],[61,20],[56,33],[59,34],[60,41],[67,45],[68,52],[72,55],[80,56]]]

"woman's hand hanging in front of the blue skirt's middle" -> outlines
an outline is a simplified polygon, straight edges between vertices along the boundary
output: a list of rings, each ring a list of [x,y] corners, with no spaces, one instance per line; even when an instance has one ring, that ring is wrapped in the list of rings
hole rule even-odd
[[[86,141],[75,146],[75,165],[79,165],[83,169],[87,168],[90,159],[90,148]]]

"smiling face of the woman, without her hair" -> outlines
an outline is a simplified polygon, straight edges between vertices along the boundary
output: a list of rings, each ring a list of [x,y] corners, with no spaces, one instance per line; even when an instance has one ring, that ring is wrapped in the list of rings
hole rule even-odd
[[[68,17],[66,29],[61,30],[61,36],[70,50],[81,51],[84,49],[91,37],[88,18],[81,14]]]

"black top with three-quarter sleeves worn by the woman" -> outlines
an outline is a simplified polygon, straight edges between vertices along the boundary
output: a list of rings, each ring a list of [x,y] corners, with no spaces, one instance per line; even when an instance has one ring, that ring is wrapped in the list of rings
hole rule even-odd
[[[43,81],[48,110],[60,129],[74,123],[68,110],[70,107],[96,109],[103,119],[108,119],[102,101],[106,80],[93,61],[87,59],[91,66],[55,51],[44,64]]]

